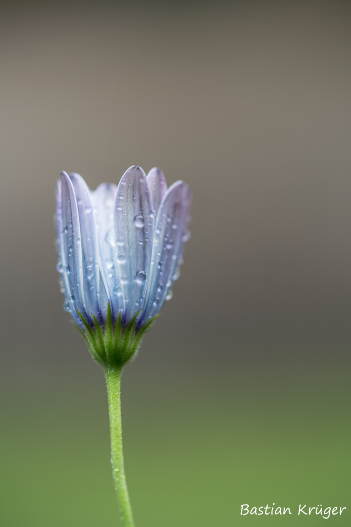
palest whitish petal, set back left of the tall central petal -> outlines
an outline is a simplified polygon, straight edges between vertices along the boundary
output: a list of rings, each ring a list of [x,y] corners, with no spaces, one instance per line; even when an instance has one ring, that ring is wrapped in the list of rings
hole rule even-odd
[[[97,237],[101,259],[101,274],[111,301],[113,319],[123,310],[123,296],[117,270],[115,236],[113,229],[113,207],[117,191],[114,183],[101,183],[93,192]],[[102,306],[102,304],[100,304]],[[106,301],[107,305],[107,301]]]

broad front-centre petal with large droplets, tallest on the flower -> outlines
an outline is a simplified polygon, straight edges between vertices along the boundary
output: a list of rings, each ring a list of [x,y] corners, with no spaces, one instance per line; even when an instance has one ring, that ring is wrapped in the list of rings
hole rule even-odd
[[[119,182],[114,203],[117,267],[124,300],[124,322],[142,308],[152,251],[154,213],[145,172],[129,168]]]

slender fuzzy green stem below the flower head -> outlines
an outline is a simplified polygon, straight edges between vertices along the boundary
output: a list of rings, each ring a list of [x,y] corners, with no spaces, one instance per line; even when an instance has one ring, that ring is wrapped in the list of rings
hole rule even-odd
[[[122,367],[107,367],[105,370],[109,427],[111,432],[112,472],[124,527],[134,527],[131,502],[124,473],[121,421],[121,375]]]

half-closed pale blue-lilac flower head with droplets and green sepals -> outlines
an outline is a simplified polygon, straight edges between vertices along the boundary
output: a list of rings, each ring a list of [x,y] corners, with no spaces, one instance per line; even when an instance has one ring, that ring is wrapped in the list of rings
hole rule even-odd
[[[160,169],[146,175],[133,166],[118,187],[102,183],[95,191],[79,174],[62,172],[56,198],[64,309],[92,353],[96,347],[98,362],[111,361],[111,354],[117,362],[130,360],[133,346],[172,297],[189,238],[190,189],[183,181],[167,189]],[[113,350],[111,343],[107,349],[110,337]]]

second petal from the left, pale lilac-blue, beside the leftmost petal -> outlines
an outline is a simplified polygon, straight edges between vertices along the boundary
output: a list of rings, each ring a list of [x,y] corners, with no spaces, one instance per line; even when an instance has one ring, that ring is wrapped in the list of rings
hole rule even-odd
[[[102,322],[103,318],[99,305],[99,297],[100,289],[104,289],[105,286],[103,282],[100,284],[99,250],[91,191],[79,174],[73,172],[69,174],[69,179],[72,181],[76,195],[79,227],[81,229],[83,285],[86,310],[89,314],[94,313],[99,322]]]

